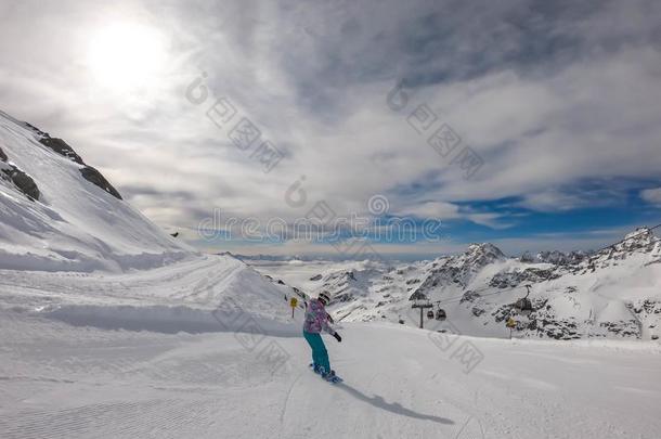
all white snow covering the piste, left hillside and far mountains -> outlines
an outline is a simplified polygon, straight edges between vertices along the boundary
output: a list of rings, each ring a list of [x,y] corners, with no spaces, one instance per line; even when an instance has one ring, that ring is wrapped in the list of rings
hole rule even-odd
[[[202,255],[89,183],[40,135],[0,113],[0,146],[41,191],[33,202],[0,180],[3,439],[659,437],[661,345],[649,338],[661,245],[651,235],[640,242],[652,253],[621,245],[596,272],[531,294],[558,319],[588,322],[587,335],[596,322],[638,338],[507,339],[493,314],[471,308],[497,310],[520,295],[511,289],[449,304],[448,321],[417,330],[409,296],[427,281],[432,299],[448,298],[553,266],[489,244],[398,267]],[[333,308],[342,343],[326,337],[344,383],[308,367],[303,310],[291,317],[288,306],[304,297],[278,277],[347,300]],[[407,325],[391,323],[402,314]]]

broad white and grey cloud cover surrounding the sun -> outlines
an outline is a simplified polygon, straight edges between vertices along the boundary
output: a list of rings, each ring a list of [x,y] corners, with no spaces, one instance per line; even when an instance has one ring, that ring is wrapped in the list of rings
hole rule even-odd
[[[161,225],[194,229],[215,207],[293,219],[319,201],[361,215],[387,194],[394,211],[498,229],[508,224],[497,215],[457,206],[520,197],[561,211],[604,198],[582,193],[585,181],[658,177],[660,4],[25,1],[0,9],[0,100],[64,138]],[[85,68],[87,41],[129,18],[165,36],[168,63],[142,91],[117,96]],[[287,151],[273,171],[207,120],[210,102],[185,101],[202,69]],[[419,87],[396,113],[386,96],[402,76]],[[474,180],[407,125],[422,103],[482,155]],[[293,208],[284,194],[301,176],[308,203]]]

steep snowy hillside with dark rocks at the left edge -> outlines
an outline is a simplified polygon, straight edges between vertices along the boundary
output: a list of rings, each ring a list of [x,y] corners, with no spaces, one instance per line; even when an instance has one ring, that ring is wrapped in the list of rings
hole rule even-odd
[[[81,165],[39,138],[0,112],[0,149],[41,192],[33,202],[0,180],[0,268],[117,272],[159,267],[192,254],[128,203],[82,178]]]

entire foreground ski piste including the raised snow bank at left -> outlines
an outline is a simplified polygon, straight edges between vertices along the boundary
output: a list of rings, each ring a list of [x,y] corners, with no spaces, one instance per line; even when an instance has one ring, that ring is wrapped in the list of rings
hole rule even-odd
[[[658,343],[451,336],[443,351],[436,333],[342,323],[341,344],[325,338],[345,379],[332,385],[308,367],[301,311],[291,322],[288,292],[220,256],[122,274],[0,271],[0,437],[661,431]],[[211,318],[226,300],[238,307],[236,319],[228,314],[235,324]],[[468,343],[483,356],[470,373],[454,357]],[[264,358],[269,346],[283,361]]]

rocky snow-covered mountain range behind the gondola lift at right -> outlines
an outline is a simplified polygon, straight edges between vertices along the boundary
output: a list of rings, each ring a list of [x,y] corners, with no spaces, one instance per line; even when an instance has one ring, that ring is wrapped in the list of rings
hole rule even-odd
[[[340,321],[388,321],[417,325],[415,299],[443,309],[446,321],[426,327],[463,334],[555,339],[583,337],[656,338],[661,325],[661,240],[636,230],[592,255],[549,253],[508,258],[492,244],[474,244],[459,255],[396,267],[352,262],[313,273],[301,284],[310,295],[334,297]],[[282,274],[285,276],[285,274]],[[286,277],[286,276],[285,276]],[[533,312],[514,307],[527,294]]]

